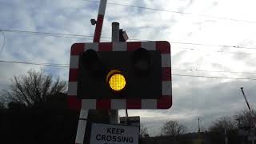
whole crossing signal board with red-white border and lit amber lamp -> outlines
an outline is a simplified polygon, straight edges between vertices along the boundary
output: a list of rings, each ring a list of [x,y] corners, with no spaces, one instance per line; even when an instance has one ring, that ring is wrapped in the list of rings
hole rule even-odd
[[[168,109],[170,43],[75,43],[68,101],[77,109]]]

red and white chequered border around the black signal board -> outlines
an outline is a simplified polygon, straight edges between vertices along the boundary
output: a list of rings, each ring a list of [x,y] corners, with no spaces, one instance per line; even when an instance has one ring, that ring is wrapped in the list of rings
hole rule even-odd
[[[78,87],[78,57],[85,50],[95,51],[134,51],[140,47],[146,50],[159,50],[162,55],[162,96],[157,99],[79,99]],[[70,54],[70,78],[68,89],[68,104],[76,110],[124,110],[124,109],[169,109],[172,105],[170,43],[156,42],[94,42],[75,43]]]

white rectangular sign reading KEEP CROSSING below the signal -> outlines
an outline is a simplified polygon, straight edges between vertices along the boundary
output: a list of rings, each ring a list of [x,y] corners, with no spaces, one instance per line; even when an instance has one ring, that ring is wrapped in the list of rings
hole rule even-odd
[[[139,127],[93,123],[90,144],[138,144]]]

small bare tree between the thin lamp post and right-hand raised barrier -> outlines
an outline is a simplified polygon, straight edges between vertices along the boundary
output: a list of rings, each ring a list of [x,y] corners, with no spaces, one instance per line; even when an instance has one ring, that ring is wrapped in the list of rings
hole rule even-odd
[[[222,118],[218,118],[215,122],[213,122],[212,126],[210,126],[211,132],[224,133],[224,131],[235,130],[235,122],[232,118],[228,116],[224,116]]]

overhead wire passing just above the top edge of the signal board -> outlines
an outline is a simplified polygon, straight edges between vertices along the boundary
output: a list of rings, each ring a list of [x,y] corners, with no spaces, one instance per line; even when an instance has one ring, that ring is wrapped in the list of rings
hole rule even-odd
[[[7,30],[7,29],[0,29],[6,32],[14,32],[14,33],[27,33],[27,34],[38,34],[38,35],[46,35],[46,36],[53,36],[53,37],[64,37],[64,38],[84,38],[90,39],[94,36],[92,35],[82,35],[82,34],[62,34],[62,33],[48,33],[48,32],[38,32],[38,31],[28,31],[28,30]],[[101,37],[111,39],[110,37]],[[92,39],[90,39],[92,40]],[[151,40],[143,40],[143,39],[130,39],[130,40],[139,40],[139,41],[151,41]],[[196,42],[170,42],[176,44],[183,44],[183,45],[195,45],[195,46],[217,46],[217,47],[227,47],[227,48],[234,48],[234,49],[250,49],[256,50],[256,47],[246,47],[246,46],[225,46],[225,45],[212,45],[212,44],[204,44],[204,43],[196,43]]]

